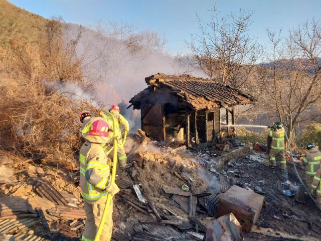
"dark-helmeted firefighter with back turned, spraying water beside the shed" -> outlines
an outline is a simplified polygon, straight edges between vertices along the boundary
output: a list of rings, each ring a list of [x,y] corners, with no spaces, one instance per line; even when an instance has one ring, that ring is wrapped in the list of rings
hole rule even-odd
[[[284,128],[280,122],[274,123],[273,127],[268,133],[272,138],[271,150],[269,153],[269,162],[272,168],[276,167],[276,157],[279,157],[281,164],[281,171],[286,170],[286,159],[284,152]]]

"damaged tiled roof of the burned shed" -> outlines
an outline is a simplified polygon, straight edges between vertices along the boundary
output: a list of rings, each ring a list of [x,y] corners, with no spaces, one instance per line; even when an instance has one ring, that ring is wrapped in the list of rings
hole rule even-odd
[[[253,96],[245,94],[238,89],[217,83],[213,79],[158,73],[146,77],[145,81],[147,85],[169,88],[175,95],[183,98],[195,109],[250,104],[256,101]],[[134,96],[129,102],[132,103],[137,100],[138,96],[143,95],[142,92]],[[186,93],[189,98],[186,98]]]

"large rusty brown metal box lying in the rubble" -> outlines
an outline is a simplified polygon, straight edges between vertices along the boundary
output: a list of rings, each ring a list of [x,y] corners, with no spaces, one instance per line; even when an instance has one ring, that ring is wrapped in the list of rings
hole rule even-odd
[[[260,215],[263,201],[264,196],[234,185],[221,195],[215,217],[232,212],[242,230],[250,232]]]

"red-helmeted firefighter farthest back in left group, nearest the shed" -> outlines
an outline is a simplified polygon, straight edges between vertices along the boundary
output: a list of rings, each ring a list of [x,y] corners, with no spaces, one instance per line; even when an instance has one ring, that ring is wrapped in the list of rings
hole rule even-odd
[[[111,106],[109,109],[109,112],[115,117],[116,121],[116,127],[112,133],[112,136],[115,135],[117,139],[117,158],[118,158],[118,163],[119,163],[119,168],[122,170],[125,170],[130,167],[129,164],[127,164],[127,156],[124,150],[124,147],[122,145],[122,132],[121,132],[121,127],[124,129],[124,132],[129,131],[129,124],[127,120],[120,114],[120,109],[118,105],[114,104]],[[106,121],[111,120],[111,116],[106,116],[103,113],[100,113],[101,116],[103,116]],[[111,147],[111,146],[110,146]]]

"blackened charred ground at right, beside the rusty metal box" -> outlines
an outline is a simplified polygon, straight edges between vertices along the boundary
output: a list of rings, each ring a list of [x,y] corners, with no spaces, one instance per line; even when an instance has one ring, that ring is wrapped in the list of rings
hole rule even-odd
[[[256,223],[258,227],[272,228],[273,230],[297,236],[307,235],[319,238],[321,233],[319,210],[308,195],[304,194],[304,188],[299,184],[292,164],[288,162],[287,168],[288,180],[299,186],[299,192],[294,196],[286,196],[280,190],[283,188],[281,183],[285,180],[282,177],[279,164],[277,168],[271,169],[262,163],[251,161],[242,156],[230,162],[229,165],[219,172],[229,176],[230,182],[233,185],[236,184],[244,188],[248,187],[252,190],[256,186],[262,188],[265,202]],[[297,170],[304,181],[304,170],[299,168]],[[233,173],[229,171],[233,171]],[[310,222],[319,226],[310,224]],[[245,236],[251,238],[253,234],[245,233]]]

